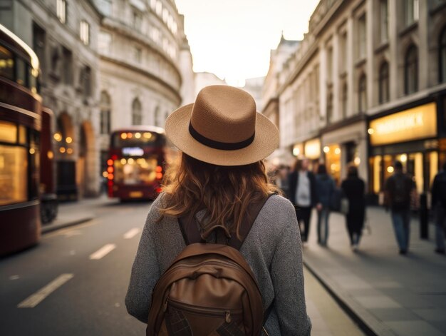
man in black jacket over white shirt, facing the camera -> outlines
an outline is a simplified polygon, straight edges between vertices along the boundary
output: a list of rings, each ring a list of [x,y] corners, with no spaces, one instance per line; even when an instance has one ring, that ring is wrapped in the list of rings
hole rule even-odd
[[[308,159],[298,159],[289,175],[289,200],[296,208],[299,225],[304,228],[302,242],[308,240],[311,223],[311,210],[316,205],[316,178],[308,170]]]

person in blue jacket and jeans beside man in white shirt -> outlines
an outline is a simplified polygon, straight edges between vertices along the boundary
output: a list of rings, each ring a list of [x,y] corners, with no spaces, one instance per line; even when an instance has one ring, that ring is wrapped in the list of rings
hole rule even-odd
[[[316,210],[318,211],[318,243],[322,246],[327,245],[330,201],[335,188],[334,180],[328,175],[326,166],[320,164],[316,175],[316,194],[318,195]]]

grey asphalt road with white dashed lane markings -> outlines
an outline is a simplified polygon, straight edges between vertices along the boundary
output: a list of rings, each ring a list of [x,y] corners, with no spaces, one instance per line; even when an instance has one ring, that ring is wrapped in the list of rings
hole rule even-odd
[[[106,198],[61,205],[61,218],[94,219],[0,260],[0,335],[144,335],[124,297],[149,208]],[[363,335],[305,272],[312,335]]]

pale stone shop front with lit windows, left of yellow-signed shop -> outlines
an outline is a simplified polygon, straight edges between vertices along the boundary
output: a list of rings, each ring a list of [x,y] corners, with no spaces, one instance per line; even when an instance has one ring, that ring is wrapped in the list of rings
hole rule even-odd
[[[346,178],[347,167],[358,167],[361,178],[367,179],[367,141],[363,118],[353,119],[323,130],[322,148],[328,173],[337,185]],[[362,164],[361,164],[362,163]]]

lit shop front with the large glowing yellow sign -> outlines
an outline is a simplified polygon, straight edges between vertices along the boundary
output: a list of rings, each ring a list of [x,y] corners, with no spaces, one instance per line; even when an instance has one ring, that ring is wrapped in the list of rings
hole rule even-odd
[[[430,190],[442,161],[437,119],[437,103],[430,102],[370,120],[371,194],[383,195],[385,180],[392,175],[395,161],[403,163],[404,170],[413,176],[419,193]]]

